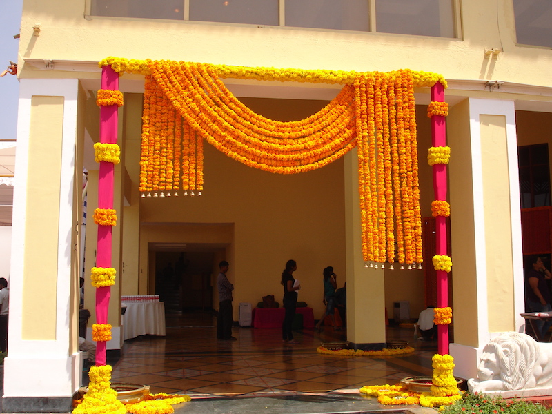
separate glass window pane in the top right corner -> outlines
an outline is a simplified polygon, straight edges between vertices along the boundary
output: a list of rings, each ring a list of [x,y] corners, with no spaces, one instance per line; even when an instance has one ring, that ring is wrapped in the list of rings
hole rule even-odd
[[[517,43],[552,47],[552,1],[513,0]]]

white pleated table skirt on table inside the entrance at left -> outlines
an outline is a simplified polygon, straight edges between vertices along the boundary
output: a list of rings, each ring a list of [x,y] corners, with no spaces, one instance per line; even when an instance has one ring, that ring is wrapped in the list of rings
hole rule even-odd
[[[123,339],[139,335],[165,336],[165,304],[163,302],[124,303]]]

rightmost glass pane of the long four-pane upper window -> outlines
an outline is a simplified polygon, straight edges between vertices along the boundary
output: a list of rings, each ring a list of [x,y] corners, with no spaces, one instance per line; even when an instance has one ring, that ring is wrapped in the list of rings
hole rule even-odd
[[[376,31],[455,37],[453,0],[376,0]]]

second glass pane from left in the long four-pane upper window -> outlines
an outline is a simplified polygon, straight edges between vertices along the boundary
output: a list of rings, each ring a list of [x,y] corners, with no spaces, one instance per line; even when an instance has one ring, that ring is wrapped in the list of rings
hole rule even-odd
[[[190,20],[278,26],[278,0],[190,0]]]

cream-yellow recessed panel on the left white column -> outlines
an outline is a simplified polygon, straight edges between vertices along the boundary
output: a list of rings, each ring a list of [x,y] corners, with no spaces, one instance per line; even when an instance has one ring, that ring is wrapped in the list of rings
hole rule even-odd
[[[35,96],[31,106],[21,337],[54,340],[63,97]],[[49,161],[48,168],[43,168],[44,159]],[[44,182],[53,186],[43,186]]]

